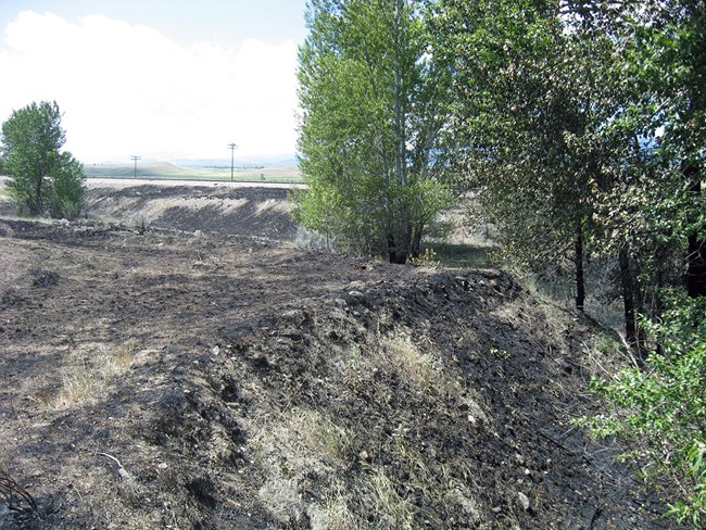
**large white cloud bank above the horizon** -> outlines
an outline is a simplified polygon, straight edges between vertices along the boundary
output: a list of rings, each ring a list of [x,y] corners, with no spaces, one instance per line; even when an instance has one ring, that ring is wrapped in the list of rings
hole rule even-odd
[[[86,163],[293,153],[297,45],[185,47],[103,15],[25,11],[0,46],[0,121],[55,100],[66,149]]]

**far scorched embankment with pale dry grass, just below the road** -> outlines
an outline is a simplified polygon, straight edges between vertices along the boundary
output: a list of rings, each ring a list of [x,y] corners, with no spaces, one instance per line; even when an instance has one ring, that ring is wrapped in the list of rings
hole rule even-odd
[[[297,226],[286,188],[135,186],[92,188],[86,215],[150,227],[289,241]]]

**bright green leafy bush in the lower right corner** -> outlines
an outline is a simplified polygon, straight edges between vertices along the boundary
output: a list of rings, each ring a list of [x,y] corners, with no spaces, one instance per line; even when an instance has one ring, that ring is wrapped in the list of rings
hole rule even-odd
[[[615,409],[579,424],[601,438],[629,440],[632,456],[691,491],[669,514],[698,527],[706,522],[706,299],[672,295],[669,304],[661,321],[643,323],[660,346],[645,368],[591,381]]]

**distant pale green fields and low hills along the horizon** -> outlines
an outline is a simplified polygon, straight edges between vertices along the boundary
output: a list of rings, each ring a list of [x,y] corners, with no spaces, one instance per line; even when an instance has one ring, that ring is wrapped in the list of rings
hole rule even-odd
[[[87,177],[135,178],[131,164],[93,164],[84,166]],[[169,162],[138,164],[137,178],[163,178],[178,180],[230,180],[230,167],[181,167]],[[261,182],[301,182],[295,165],[236,167],[234,180]]]

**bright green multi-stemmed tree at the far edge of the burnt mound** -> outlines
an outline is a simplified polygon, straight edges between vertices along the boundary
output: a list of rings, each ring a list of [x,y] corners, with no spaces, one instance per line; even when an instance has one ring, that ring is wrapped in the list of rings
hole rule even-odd
[[[339,244],[403,264],[451,200],[441,184],[449,77],[425,2],[312,0],[300,49],[295,215]]]

